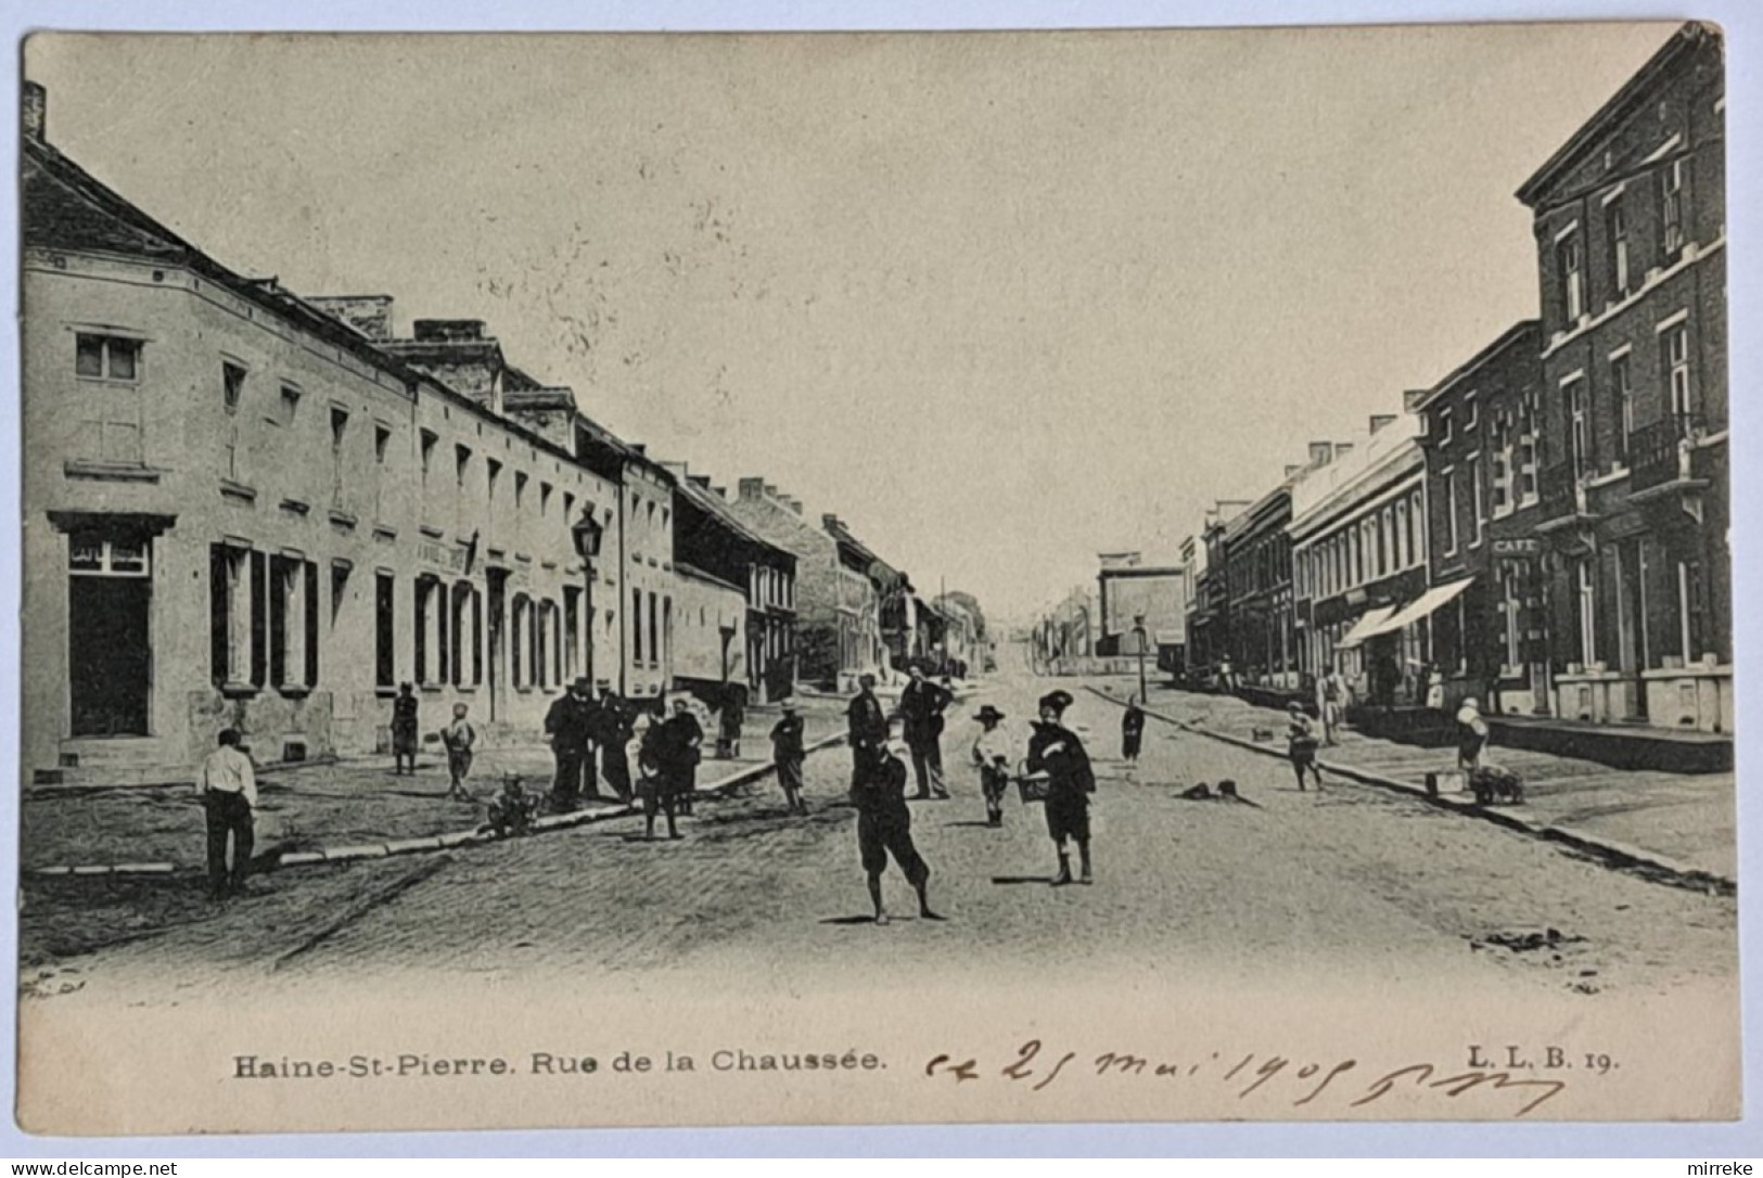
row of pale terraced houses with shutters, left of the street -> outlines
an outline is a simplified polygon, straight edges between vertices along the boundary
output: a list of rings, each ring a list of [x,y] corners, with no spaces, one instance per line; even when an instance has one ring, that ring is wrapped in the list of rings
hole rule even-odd
[[[178,779],[226,727],[263,762],[384,749],[404,682],[520,739],[578,677],[714,707],[973,638],[483,321],[236,273],[51,146],[39,86],[23,113],[26,781]]]

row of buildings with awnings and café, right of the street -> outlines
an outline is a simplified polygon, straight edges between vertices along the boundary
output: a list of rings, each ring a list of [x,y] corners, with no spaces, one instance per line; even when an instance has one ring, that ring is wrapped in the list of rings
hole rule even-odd
[[[1192,679],[1733,732],[1722,78],[1678,30],[1518,189],[1539,312],[1208,513]]]

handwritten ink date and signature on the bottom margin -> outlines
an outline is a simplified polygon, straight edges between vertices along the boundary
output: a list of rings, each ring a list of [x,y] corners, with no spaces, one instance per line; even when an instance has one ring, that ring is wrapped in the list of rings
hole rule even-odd
[[[1072,1083],[1077,1077],[1116,1077],[1116,1079],[1197,1079],[1216,1083],[1236,1090],[1238,1100],[1248,1100],[1261,1093],[1262,1100],[1291,1100],[1291,1107],[1312,1104],[1322,1093],[1329,1100],[1349,1097],[1347,1107],[1368,1107],[1403,1088],[1412,1092],[1440,1092],[1447,1097],[1484,1092],[1513,1092],[1523,1104],[1513,1118],[1525,1116],[1546,1100],[1560,1095],[1567,1086],[1564,1079],[1536,1079],[1514,1076],[1497,1069],[1449,1069],[1433,1063],[1409,1063],[1387,1072],[1375,1072],[1363,1067],[1359,1060],[1335,1062],[1299,1062],[1280,1055],[1250,1053],[1241,1058],[1225,1056],[1218,1051],[1197,1062],[1157,1062],[1141,1055],[1104,1051],[1095,1058],[1079,1060],[1075,1051],[1056,1055],[1045,1049],[1038,1039],[1030,1039],[1017,1048],[1015,1058],[996,1070],[989,1063],[980,1063],[978,1056],[961,1058],[956,1055],[936,1055],[924,1065],[924,1074],[933,1079],[952,1079],[956,1086],[968,1081],[1003,1077],[1012,1085],[1024,1085],[1028,1092],[1044,1092],[1054,1083]],[[1373,1076],[1361,1086],[1366,1076]],[[1349,1077],[1350,1076],[1350,1077]],[[1336,1083],[1338,1081],[1338,1083]]]

